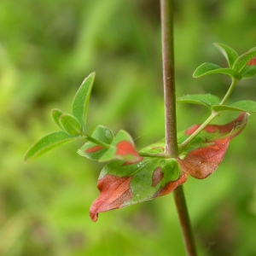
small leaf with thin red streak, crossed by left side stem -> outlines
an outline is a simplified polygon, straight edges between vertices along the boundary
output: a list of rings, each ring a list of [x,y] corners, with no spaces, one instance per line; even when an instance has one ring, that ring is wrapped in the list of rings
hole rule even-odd
[[[98,125],[93,131],[91,137],[96,138],[102,143],[111,144],[113,142],[113,132],[107,127]],[[78,153],[82,156],[87,157],[90,160],[99,160],[103,154],[108,151],[107,148],[102,148],[102,146],[96,143],[85,143],[84,146],[79,148]]]

